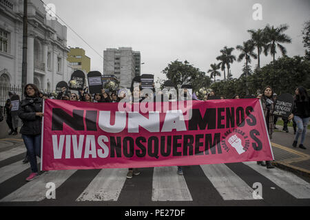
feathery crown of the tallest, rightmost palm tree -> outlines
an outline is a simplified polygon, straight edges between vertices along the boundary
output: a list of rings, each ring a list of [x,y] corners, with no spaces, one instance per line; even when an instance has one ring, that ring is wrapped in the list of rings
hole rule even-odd
[[[274,28],[269,24],[265,27],[264,31],[268,41],[265,45],[264,53],[267,56],[267,54],[270,52],[270,54],[273,56],[273,62],[275,61],[275,56],[277,53],[276,47],[280,49],[282,56],[287,54],[287,49],[280,43],[291,43],[291,38],[287,36],[287,34],[283,34],[283,32],[285,32],[288,28],[289,25],[287,24],[280,25],[278,28]]]

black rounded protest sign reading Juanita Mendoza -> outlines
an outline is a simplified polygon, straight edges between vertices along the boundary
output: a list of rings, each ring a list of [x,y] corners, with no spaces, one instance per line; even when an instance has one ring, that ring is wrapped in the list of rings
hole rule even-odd
[[[273,115],[289,118],[294,107],[294,98],[291,94],[281,94],[276,100]]]

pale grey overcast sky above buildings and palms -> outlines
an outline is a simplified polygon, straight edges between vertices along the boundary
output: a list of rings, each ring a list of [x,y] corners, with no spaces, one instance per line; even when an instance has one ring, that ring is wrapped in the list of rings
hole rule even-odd
[[[56,14],[103,56],[106,48],[132,47],[141,52],[141,74],[161,73],[171,61],[189,61],[207,72],[225,45],[236,47],[250,37],[247,30],[278,27],[292,39],[285,44],[288,56],[304,56],[302,28],[310,19],[309,0],[44,0]],[[262,5],[262,21],[254,21],[252,9]],[[59,21],[63,23],[62,21]],[[82,47],[91,58],[91,70],[103,73],[103,58],[68,28],[68,46]],[[280,52],[279,52],[280,53]],[[239,52],[234,50],[238,57]],[[278,58],[280,54],[276,56]],[[272,60],[261,55],[261,66]],[[245,62],[235,61],[231,73],[237,78]],[[254,69],[257,61],[251,63]],[[223,74],[222,77],[223,78]]]

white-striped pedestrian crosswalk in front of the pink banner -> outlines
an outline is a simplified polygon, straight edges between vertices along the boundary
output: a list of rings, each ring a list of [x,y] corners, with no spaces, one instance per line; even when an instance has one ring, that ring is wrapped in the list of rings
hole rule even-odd
[[[8,159],[20,153],[24,153],[24,151],[17,148],[14,151],[1,152],[0,159]],[[3,202],[43,201],[47,199],[48,188],[46,186],[50,182],[56,186],[56,199],[65,199],[68,195],[76,195],[74,202],[118,202],[122,200],[122,195],[132,193],[128,190],[145,190],[142,192],[142,195],[145,196],[139,198],[144,199],[145,202],[185,201],[190,203],[194,202],[199,194],[206,199],[212,199],[208,198],[211,195],[208,193],[211,191],[210,188],[213,188],[223,201],[264,201],[264,193],[261,197],[260,195],[254,197],[255,188],[253,188],[253,184],[260,182],[260,180],[271,181],[275,188],[280,188],[281,192],[287,193],[289,197],[310,199],[310,184],[293,173],[279,168],[267,169],[258,166],[256,162],[245,162],[242,163],[242,166],[246,166],[250,170],[250,175],[254,179],[253,183],[245,180],[240,175],[240,170],[236,170],[234,166],[208,164],[185,166],[183,168],[184,175],[177,174],[176,166],[141,168],[141,175],[134,176],[132,179],[126,179],[126,168],[102,169],[98,170],[98,173],[92,172],[89,181],[84,180],[83,188],[81,188],[76,187],[79,181],[71,181],[74,184],[69,187],[66,184],[70,183],[70,178],[72,179],[73,175],[79,174],[76,172],[78,170],[52,170],[41,174],[33,181],[26,182],[24,173],[25,170],[29,169],[30,164],[23,164],[17,158],[10,164],[0,164],[0,206]],[[143,169],[150,172],[143,172]],[[201,170],[201,175],[193,178],[190,173],[194,170]],[[87,171],[85,170],[84,176],[87,175]],[[19,176],[21,177],[19,178]],[[8,184],[12,184],[13,178],[19,179],[23,184],[19,183],[16,187],[7,187]],[[205,181],[206,179],[207,181]],[[145,186],[149,186],[149,188],[136,188],[137,181],[143,181]],[[201,182],[205,185],[199,184]],[[63,185],[66,185],[65,190],[57,193],[57,190]]]

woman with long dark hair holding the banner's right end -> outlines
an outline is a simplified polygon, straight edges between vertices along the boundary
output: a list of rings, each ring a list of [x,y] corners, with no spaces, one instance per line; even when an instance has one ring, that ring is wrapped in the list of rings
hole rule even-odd
[[[273,133],[273,111],[274,111],[274,99],[273,99],[273,91],[271,87],[267,86],[264,89],[264,93],[262,96],[258,96],[260,101],[262,102],[262,110],[264,112],[266,124],[267,124],[267,131],[269,134],[269,138],[272,138]],[[266,164],[262,161],[258,161],[257,164],[262,166],[267,166],[267,168],[274,168],[274,166],[271,165],[270,161],[266,161]]]

